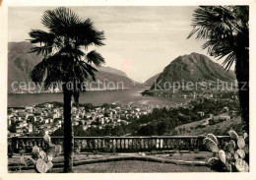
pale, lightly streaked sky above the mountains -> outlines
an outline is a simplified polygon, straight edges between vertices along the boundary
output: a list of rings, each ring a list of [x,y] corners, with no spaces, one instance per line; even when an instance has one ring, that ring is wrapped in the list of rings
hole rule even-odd
[[[25,41],[32,29],[46,30],[41,24],[45,10],[56,7],[10,7],[8,41]],[[83,20],[91,18],[97,30],[103,30],[105,43],[96,49],[105,59],[105,66],[119,69],[137,82],[145,82],[163,71],[180,55],[202,50],[203,41],[193,36],[192,15],[197,7],[69,7]],[[217,61],[222,63],[223,60]],[[233,67],[231,68],[233,69]]]

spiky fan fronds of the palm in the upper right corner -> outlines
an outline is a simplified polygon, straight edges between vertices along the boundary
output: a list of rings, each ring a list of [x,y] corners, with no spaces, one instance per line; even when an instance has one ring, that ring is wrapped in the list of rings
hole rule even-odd
[[[194,29],[188,38],[197,33],[197,39],[206,39],[202,47],[208,48],[210,55],[225,57],[224,66],[229,70],[236,51],[248,52],[248,11],[248,6],[200,6],[194,12]]]

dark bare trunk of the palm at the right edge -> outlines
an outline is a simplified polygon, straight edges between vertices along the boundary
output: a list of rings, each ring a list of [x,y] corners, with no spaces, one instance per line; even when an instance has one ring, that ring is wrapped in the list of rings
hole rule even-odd
[[[243,121],[243,129],[249,134],[249,54],[242,52],[237,54],[235,74],[238,81],[240,110]]]

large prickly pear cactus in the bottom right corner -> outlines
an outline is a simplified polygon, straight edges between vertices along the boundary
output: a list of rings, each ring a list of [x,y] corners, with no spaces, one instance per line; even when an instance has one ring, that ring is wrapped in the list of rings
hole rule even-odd
[[[204,145],[215,152],[215,157],[208,160],[208,164],[213,170],[225,172],[249,172],[248,155],[249,148],[245,143],[248,137],[244,133],[243,137],[239,137],[234,131],[228,132],[230,141],[225,144],[224,150],[221,150],[218,139],[213,134],[208,134],[204,139]]]

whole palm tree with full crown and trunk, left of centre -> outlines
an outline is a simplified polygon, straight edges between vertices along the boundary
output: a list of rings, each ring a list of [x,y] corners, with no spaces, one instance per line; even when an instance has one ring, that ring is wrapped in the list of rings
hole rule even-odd
[[[33,46],[30,52],[43,56],[31,72],[31,79],[45,90],[62,85],[64,100],[64,172],[73,171],[74,133],[72,127],[72,97],[79,102],[81,91],[85,91],[88,78],[95,78],[97,66],[104,63],[102,56],[91,45],[104,45],[103,31],[96,30],[94,23],[81,20],[68,8],[60,7],[45,11],[42,25],[48,29],[31,30]]]

